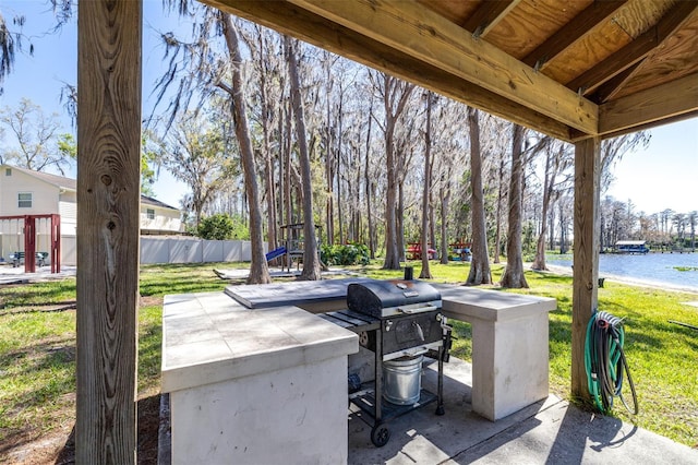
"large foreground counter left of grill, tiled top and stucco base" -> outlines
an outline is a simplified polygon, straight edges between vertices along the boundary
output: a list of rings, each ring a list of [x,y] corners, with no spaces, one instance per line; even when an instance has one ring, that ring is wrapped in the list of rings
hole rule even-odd
[[[297,307],[166,296],[163,392],[172,463],[347,461],[347,356],[358,336]]]

